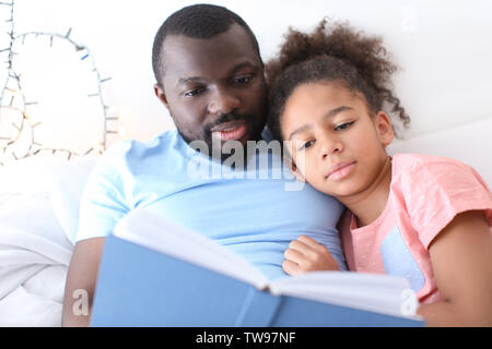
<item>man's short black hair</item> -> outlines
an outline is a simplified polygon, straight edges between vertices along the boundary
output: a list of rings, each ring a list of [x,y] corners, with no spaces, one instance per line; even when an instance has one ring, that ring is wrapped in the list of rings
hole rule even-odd
[[[155,34],[152,48],[152,69],[155,80],[161,85],[164,76],[163,46],[167,35],[185,35],[187,37],[208,39],[226,32],[232,24],[237,23],[250,36],[253,47],[258,57],[258,41],[246,22],[234,12],[223,7],[212,4],[194,4],[176,11],[161,25]],[[261,61],[261,58],[260,58]],[[162,87],[162,86],[161,86]]]

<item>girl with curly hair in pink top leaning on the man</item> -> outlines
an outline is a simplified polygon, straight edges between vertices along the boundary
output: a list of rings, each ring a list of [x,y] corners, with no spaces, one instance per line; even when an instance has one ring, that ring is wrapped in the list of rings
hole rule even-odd
[[[289,141],[294,176],[337,197],[351,270],[406,277],[427,325],[492,326],[492,198],[483,179],[453,159],[386,153],[391,112],[410,121],[390,87],[396,67],[382,40],[323,21],[290,31],[267,65],[268,127]],[[285,251],[290,275],[337,269],[301,237]]]

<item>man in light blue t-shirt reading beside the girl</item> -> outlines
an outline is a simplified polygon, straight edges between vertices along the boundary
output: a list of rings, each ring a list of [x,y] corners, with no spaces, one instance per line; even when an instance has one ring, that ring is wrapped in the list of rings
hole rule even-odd
[[[338,202],[308,185],[286,191],[285,179],[251,179],[248,170],[226,166],[224,156],[210,152],[219,146],[219,154],[226,153],[221,151],[232,141],[261,140],[267,86],[247,24],[225,8],[184,8],[159,29],[153,69],[155,95],[177,130],[145,144],[121,142],[97,164],[81,204],[62,324],[89,325],[90,306],[86,313],[72,311],[74,294],[83,290],[92,304],[104,239],[136,207],[214,239],[270,278],[285,276],[283,253],[301,234],[325,244],[343,269]],[[204,146],[191,147],[197,142]],[[265,155],[255,151],[246,160],[255,165]],[[192,176],[190,164],[219,167],[221,176]]]

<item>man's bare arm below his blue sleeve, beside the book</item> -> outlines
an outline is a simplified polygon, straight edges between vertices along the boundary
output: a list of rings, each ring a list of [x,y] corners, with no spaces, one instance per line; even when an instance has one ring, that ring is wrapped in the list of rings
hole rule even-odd
[[[75,244],[65,288],[62,326],[90,324],[104,240],[105,238],[93,238]]]

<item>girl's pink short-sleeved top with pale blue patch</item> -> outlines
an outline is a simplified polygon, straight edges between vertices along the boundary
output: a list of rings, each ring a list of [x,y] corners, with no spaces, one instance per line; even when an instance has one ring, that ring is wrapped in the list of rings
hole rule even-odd
[[[380,216],[362,228],[351,213],[344,217],[342,242],[349,268],[403,276],[420,302],[435,302],[440,294],[429,245],[457,214],[472,209],[484,209],[492,227],[492,195],[473,168],[444,157],[397,154]]]

